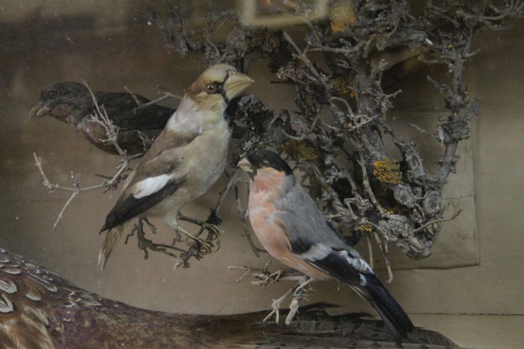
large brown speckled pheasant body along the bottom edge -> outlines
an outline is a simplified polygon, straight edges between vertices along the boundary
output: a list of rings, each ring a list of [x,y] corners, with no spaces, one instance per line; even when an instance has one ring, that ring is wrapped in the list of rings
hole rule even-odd
[[[394,347],[376,321],[308,308],[285,327],[262,322],[263,312],[208,316],[139,309],[78,288],[0,249],[0,349]],[[420,329],[410,342],[420,344],[404,347],[455,346]]]

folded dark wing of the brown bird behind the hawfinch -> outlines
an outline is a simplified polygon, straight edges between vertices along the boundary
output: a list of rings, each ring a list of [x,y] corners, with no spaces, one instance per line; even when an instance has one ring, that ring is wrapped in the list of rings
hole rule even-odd
[[[152,104],[138,108],[135,99],[129,93],[95,94],[99,105],[103,105],[107,115],[121,130],[162,130],[175,109]],[[140,104],[150,102],[144,96],[136,95]]]

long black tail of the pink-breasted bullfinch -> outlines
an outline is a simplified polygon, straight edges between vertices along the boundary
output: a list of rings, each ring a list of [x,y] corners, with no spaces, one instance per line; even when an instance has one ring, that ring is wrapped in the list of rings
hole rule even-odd
[[[397,345],[401,345],[402,338],[413,331],[413,323],[375,275],[366,274],[365,278],[366,285],[355,290],[375,307]]]

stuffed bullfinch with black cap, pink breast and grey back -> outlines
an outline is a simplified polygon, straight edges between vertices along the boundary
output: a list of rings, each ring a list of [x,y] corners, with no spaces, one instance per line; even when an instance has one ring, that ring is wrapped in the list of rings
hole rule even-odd
[[[238,166],[251,177],[249,220],[267,252],[308,275],[306,283],[333,277],[350,286],[377,310],[400,345],[413,323],[367,262],[325,219],[291,167],[269,150],[249,153]]]

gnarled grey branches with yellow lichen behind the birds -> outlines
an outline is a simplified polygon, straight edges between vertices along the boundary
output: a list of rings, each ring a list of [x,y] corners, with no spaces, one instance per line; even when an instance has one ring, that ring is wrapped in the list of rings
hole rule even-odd
[[[463,76],[475,54],[472,37],[479,29],[521,18],[524,5],[443,0],[428,1],[415,12],[405,0],[332,0],[330,7],[329,18],[314,22],[307,5],[297,7],[301,12],[293,15],[305,24],[300,40],[285,31],[248,27],[232,11],[210,14],[200,31],[187,31],[172,7],[166,19],[153,11],[146,17],[184,57],[204,54],[209,64],[228,62],[242,70],[250,60],[264,58],[282,83],[294,87],[297,111],[292,115],[274,112],[254,96],[241,99],[236,120],[248,131],[234,150],[233,165],[250,150],[276,148],[300,171],[326,217],[351,231],[348,242],[373,234],[383,253],[391,242],[411,258],[427,257],[446,220],[442,188],[456,171],[457,145],[470,137],[471,117],[477,113]],[[230,33],[218,41],[213,28],[225,22]],[[321,52],[323,62],[311,52]],[[447,68],[446,76],[428,80],[445,100],[448,116],[435,130],[414,126],[442,145],[436,173],[425,169],[416,144],[388,123],[401,91],[386,93],[383,76],[406,57]],[[386,136],[400,151],[400,162],[385,147]]]

